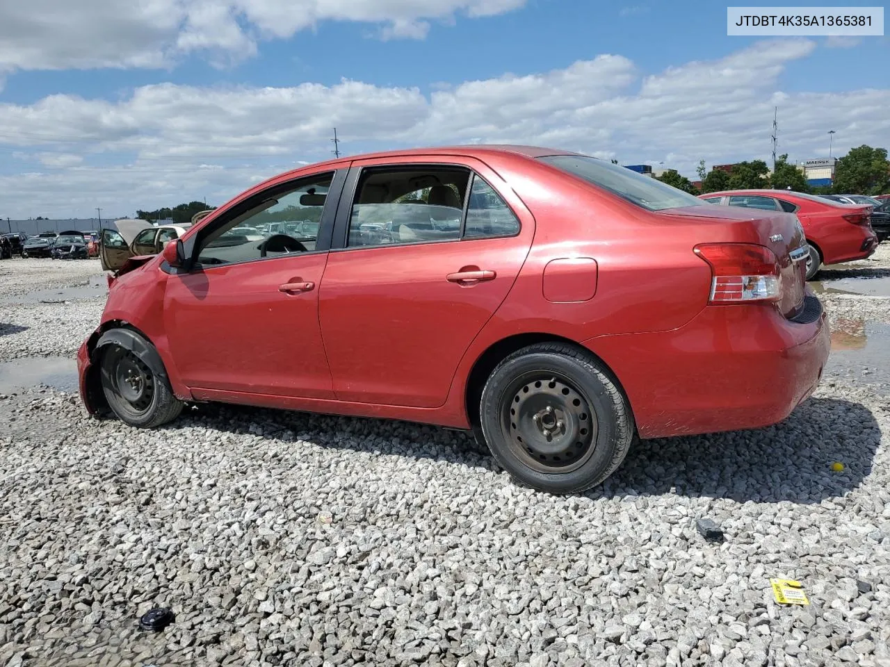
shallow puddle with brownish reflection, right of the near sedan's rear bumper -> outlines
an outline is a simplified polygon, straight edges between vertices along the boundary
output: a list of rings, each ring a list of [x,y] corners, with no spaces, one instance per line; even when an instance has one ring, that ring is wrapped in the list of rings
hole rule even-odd
[[[890,382],[890,325],[837,319],[826,372],[855,374],[862,382]]]

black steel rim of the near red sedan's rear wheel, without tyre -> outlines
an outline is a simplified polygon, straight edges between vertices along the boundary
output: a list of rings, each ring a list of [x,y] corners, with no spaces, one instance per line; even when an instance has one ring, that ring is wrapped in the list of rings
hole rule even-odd
[[[504,438],[534,470],[578,470],[594,452],[596,415],[561,374],[522,374],[504,392],[499,409]]]

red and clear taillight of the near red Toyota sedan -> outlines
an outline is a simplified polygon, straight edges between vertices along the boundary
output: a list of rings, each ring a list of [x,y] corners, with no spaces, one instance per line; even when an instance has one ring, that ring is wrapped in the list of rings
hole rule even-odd
[[[779,261],[764,245],[748,243],[705,243],[694,251],[711,267],[708,303],[779,301]]]

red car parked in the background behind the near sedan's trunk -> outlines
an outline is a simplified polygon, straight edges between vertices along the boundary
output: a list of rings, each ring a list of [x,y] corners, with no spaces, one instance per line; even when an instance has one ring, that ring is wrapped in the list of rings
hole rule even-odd
[[[807,279],[814,277],[822,264],[864,260],[878,249],[878,236],[870,224],[872,207],[868,205],[840,204],[788,190],[733,190],[699,197],[710,204],[797,215],[810,252]]]

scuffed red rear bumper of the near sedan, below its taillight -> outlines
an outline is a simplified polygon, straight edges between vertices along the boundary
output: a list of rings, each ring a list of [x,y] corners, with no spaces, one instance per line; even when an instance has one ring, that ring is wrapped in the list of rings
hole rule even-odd
[[[641,438],[781,422],[816,389],[830,348],[821,307],[800,324],[754,305],[711,306],[675,331],[584,344],[618,376]]]

